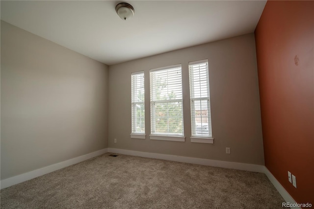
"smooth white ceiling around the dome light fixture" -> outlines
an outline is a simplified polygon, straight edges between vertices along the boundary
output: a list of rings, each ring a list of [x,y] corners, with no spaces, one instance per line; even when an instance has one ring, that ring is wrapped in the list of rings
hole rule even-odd
[[[254,32],[266,1],[4,1],[1,20],[107,65]]]

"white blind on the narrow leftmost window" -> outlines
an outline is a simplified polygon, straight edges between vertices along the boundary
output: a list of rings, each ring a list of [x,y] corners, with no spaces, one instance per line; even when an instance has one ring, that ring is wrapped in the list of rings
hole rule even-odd
[[[144,71],[131,74],[132,133],[145,134]]]

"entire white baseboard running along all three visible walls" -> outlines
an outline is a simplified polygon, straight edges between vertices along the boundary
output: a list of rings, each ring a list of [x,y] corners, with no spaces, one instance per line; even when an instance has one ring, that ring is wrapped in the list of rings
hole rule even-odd
[[[173,155],[165,155],[165,154],[157,154],[157,153],[146,153],[146,152],[115,149],[115,148],[105,148],[103,150],[99,150],[99,151],[89,153],[83,156],[75,157],[69,160],[65,160],[63,162],[49,165],[44,168],[40,168],[40,169],[30,171],[30,172],[27,172],[18,176],[1,180],[0,188],[3,189],[6,187],[15,185],[17,183],[28,181],[36,177],[48,174],[50,172],[59,170],[61,168],[76,164],[78,162],[81,162],[81,161],[84,161],[84,160],[87,160],[92,157],[96,157],[96,156],[99,156],[108,152],[123,154],[123,155],[130,155],[130,156],[149,157],[149,158],[164,159],[164,160],[171,160],[171,161],[177,161],[177,162],[209,165],[209,166],[215,166],[215,167],[221,167],[221,168],[232,168],[232,169],[237,169],[237,170],[264,173],[287,203],[290,203],[290,204],[296,203],[294,199],[290,196],[290,194],[287,192],[287,190],[277,181],[277,179],[263,165],[255,165],[255,164],[239,163],[239,162],[228,162],[228,161],[221,161],[221,160],[195,158],[195,157],[173,156]],[[300,209],[300,208],[291,208],[291,209]]]

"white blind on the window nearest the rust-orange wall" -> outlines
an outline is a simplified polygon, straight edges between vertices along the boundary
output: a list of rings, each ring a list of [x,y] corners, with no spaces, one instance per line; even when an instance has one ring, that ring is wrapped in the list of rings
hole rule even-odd
[[[192,136],[212,137],[208,60],[189,62]]]

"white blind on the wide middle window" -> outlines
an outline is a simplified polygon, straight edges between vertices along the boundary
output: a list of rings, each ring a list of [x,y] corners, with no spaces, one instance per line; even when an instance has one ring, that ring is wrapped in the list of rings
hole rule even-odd
[[[152,69],[151,134],[183,136],[181,65]]]

